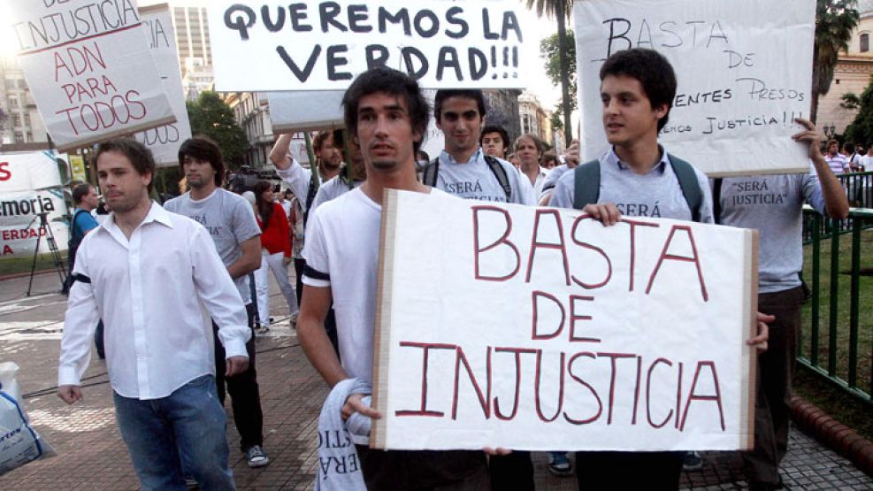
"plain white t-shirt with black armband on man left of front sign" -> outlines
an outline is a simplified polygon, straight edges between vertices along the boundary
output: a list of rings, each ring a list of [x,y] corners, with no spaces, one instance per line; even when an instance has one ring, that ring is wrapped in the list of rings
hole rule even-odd
[[[381,217],[382,207],[356,188],[310,215],[303,248],[303,284],[331,288],[342,367],[349,377],[369,382]]]

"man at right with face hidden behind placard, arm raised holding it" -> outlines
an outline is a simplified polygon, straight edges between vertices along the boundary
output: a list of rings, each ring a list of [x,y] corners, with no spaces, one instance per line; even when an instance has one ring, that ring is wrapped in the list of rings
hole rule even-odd
[[[789,401],[800,332],[803,286],[803,203],[834,219],[849,212],[846,193],[819,149],[824,135],[806,119],[807,129],[793,139],[808,146],[815,173],[716,179],[716,223],[756,228],[761,234],[758,257],[758,309],[776,316],[770,324],[770,349],[758,357],[754,450],[743,453],[751,490],[782,487],[779,463],[788,449]]]

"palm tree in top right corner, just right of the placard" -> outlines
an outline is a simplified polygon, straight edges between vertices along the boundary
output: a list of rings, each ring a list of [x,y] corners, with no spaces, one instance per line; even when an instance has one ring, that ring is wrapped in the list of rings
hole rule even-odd
[[[861,17],[857,0],[817,0],[816,41],[812,60],[811,119],[815,122],[818,97],[831,89],[839,53],[848,50],[852,33]]]

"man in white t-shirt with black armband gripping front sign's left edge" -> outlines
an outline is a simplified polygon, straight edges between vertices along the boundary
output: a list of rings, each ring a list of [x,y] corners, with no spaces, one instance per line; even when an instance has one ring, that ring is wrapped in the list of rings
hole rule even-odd
[[[312,217],[303,250],[306,286],[297,324],[303,352],[331,387],[349,378],[372,380],[383,191],[443,194],[416,177],[416,150],[427,128],[428,107],[415,81],[391,69],[373,69],[348,88],[343,107],[346,127],[364,155],[367,180],[320,206]],[[323,325],[332,302],[342,364]],[[380,418],[360,394],[348,396],[341,412],[343,419],[355,412]],[[319,441],[331,440],[319,435]],[[355,451],[350,451],[349,457],[354,456]],[[356,455],[370,489],[488,487],[485,454],[479,451],[385,451],[357,446]],[[324,479],[334,481],[343,479],[341,468],[351,470],[347,465],[327,463],[327,467]]]

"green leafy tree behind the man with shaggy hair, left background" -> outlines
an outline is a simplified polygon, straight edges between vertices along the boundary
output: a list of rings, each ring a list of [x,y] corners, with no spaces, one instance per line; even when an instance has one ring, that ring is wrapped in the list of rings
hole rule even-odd
[[[205,134],[218,143],[225,162],[236,168],[249,150],[246,133],[237,124],[234,110],[217,93],[205,91],[196,101],[185,103],[192,134]]]

